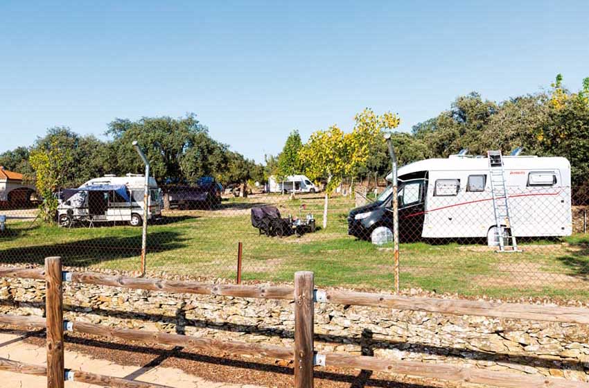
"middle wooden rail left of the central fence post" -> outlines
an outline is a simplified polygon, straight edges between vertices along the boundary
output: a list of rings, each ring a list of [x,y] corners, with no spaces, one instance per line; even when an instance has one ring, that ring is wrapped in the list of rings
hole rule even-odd
[[[17,315],[0,315],[0,324],[26,326],[32,328],[44,328],[46,322],[40,317],[20,317]],[[173,346],[191,347],[200,350],[215,350],[240,355],[263,355],[269,358],[281,360],[293,360],[294,350],[286,346],[250,344],[239,341],[219,341],[211,338],[193,337],[191,335],[179,335],[160,333],[157,331],[109,328],[107,326],[89,324],[86,322],[72,322],[72,331],[77,333],[100,335],[102,337],[114,337],[121,340],[140,341],[146,344],[164,344]]]

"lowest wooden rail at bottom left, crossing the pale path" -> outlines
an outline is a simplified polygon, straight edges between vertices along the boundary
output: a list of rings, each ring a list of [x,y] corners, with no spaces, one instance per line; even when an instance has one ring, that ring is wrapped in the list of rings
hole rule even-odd
[[[17,362],[0,358],[0,371],[10,371],[15,373],[23,373],[33,376],[47,376],[46,367],[35,364],[27,364],[26,362]],[[114,388],[170,388],[166,385],[153,384],[151,382],[141,382],[134,380],[126,380],[124,378],[116,378],[111,376],[97,375],[96,373],[89,373],[85,371],[69,371],[73,372],[73,381],[85,382],[87,384],[100,385],[102,387]]]

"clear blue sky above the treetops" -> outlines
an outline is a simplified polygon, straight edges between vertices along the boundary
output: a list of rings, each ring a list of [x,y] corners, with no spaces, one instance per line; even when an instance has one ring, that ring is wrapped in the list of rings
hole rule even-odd
[[[99,4],[100,3],[100,4]],[[401,131],[460,94],[589,76],[589,1],[3,1],[0,152],[47,127],[195,112],[247,157],[364,107]]]

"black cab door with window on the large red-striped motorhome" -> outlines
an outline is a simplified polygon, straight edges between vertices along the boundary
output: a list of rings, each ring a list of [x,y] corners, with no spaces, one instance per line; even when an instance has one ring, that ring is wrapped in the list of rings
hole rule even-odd
[[[416,179],[402,184],[398,191],[399,238],[419,240],[425,220],[425,181]]]

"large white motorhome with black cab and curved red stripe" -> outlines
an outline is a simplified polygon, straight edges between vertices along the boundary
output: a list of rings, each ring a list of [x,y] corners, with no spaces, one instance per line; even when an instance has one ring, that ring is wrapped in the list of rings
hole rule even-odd
[[[535,156],[502,159],[510,213],[502,227],[517,237],[570,236],[569,161]],[[498,228],[490,177],[489,159],[471,155],[426,159],[399,168],[400,234],[410,238],[486,237],[491,245]],[[376,202],[350,212],[349,234],[370,238],[376,227],[392,230],[391,206],[392,186]]]

